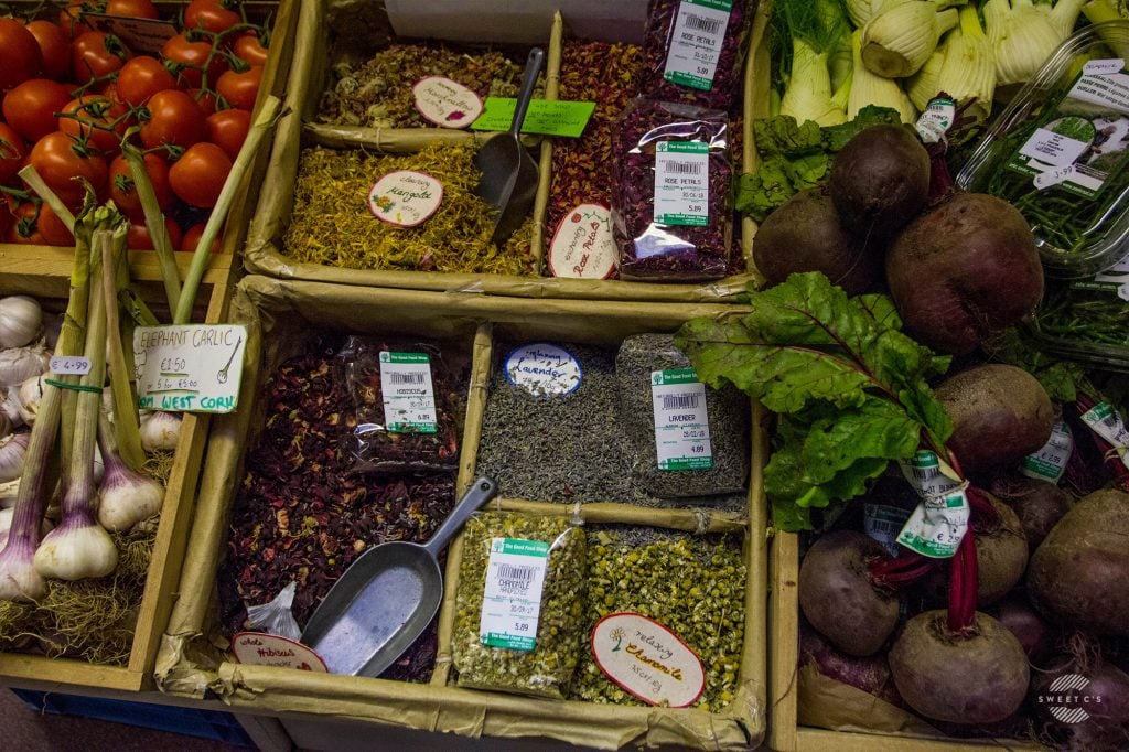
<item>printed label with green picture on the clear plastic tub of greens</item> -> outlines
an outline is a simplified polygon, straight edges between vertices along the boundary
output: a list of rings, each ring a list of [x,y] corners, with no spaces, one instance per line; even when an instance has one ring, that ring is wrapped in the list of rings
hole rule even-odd
[[[1101,193],[1129,154],[1129,76],[1120,59],[1092,60],[1007,168],[1039,190],[1058,187],[1085,199]]]

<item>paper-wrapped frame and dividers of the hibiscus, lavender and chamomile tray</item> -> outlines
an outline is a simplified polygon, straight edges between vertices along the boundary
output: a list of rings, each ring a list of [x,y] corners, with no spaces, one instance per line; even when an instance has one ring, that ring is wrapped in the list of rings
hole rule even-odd
[[[213,421],[190,559],[158,658],[158,684],[165,692],[180,696],[215,693],[233,709],[282,718],[349,719],[475,737],[548,736],[604,749],[631,744],[733,750],[755,746],[764,734],[767,649],[765,507],[760,475],[765,444],[759,430],[753,434],[747,506],[739,510],[650,508],[614,501],[550,504],[507,498],[505,489],[487,506],[557,516],[578,513],[585,524],[630,523],[738,536],[747,572],[743,594],[745,627],[736,691],[719,712],[533,699],[456,687],[450,642],[462,535],[447,550],[439,652],[428,684],[239,664],[227,654],[226,639],[215,631],[217,569],[221,551],[228,546],[233,499],[244,482],[245,452],[255,446],[256,430],[262,425],[257,390],[265,383],[264,374],[292,351],[304,333],[413,334],[432,341],[463,341],[472,353],[457,469],[458,487],[465,489],[475,473],[496,338],[613,346],[631,334],[673,332],[690,317],[720,316],[734,309],[711,304],[525,300],[245,278],[231,305],[231,322],[248,326],[240,392],[245,409]]]

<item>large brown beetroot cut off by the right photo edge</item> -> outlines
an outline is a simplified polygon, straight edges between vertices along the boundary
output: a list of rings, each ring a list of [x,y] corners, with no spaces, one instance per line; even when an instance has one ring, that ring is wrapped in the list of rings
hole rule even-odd
[[[1105,489],[1075,504],[1031,557],[1027,593],[1064,624],[1129,636],[1129,493]]]

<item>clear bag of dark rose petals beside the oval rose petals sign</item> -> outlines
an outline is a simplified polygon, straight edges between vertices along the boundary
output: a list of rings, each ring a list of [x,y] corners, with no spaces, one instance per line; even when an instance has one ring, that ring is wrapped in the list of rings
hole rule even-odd
[[[726,115],[633,99],[613,139],[612,229],[620,278],[720,279],[733,250]]]

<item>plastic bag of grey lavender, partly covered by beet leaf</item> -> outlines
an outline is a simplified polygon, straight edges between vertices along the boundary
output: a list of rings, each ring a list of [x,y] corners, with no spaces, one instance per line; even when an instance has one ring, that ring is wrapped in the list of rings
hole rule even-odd
[[[671,334],[636,334],[615,356],[632,480],[657,497],[733,493],[750,462],[749,399],[698,381]]]

